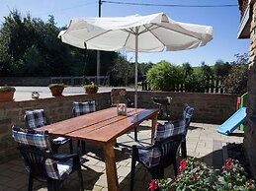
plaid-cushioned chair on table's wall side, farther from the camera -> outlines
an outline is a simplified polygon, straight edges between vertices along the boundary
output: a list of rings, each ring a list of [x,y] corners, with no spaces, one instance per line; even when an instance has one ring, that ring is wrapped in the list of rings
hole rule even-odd
[[[73,102],[73,117],[78,117],[96,110],[95,100],[85,102]],[[85,154],[85,141],[82,141],[82,154]],[[77,147],[80,147],[80,140],[77,141]]]

